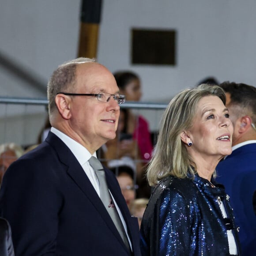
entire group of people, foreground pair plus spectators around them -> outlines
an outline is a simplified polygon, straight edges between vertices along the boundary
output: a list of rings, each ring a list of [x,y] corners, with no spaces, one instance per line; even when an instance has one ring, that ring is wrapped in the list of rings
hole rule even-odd
[[[256,87],[182,90],[156,142],[119,106],[142,91],[136,73],[87,58],[53,72],[38,141],[0,145],[1,255],[255,255]]]

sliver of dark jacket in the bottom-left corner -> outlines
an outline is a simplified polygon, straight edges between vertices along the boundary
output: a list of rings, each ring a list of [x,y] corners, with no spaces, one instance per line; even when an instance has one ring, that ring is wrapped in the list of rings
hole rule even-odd
[[[8,221],[4,218],[0,218],[0,255],[14,256],[11,240],[11,227]]]

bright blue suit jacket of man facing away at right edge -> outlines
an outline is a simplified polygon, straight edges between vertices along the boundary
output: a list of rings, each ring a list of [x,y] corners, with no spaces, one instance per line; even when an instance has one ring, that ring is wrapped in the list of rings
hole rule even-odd
[[[233,207],[243,255],[256,254],[256,217],[252,195],[256,189],[256,143],[237,148],[216,167],[217,182],[226,188]]]

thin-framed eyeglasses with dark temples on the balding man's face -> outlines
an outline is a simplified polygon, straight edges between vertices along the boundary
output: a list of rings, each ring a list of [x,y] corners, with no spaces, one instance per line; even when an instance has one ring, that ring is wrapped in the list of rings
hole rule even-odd
[[[118,104],[124,104],[125,102],[125,95],[123,94],[110,94],[107,92],[99,92],[97,94],[92,93],[68,93],[68,92],[59,92],[57,94],[64,94],[64,95],[70,95],[70,96],[94,96],[97,97],[98,101],[100,102],[109,102],[111,96],[113,96],[113,99],[117,101]]]

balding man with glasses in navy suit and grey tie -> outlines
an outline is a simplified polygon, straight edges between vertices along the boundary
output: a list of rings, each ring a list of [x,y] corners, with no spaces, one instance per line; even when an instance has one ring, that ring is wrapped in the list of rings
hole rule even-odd
[[[8,168],[0,191],[15,255],[139,256],[138,220],[129,214],[116,177],[89,162],[116,136],[125,97],[113,75],[94,60],[72,60],[53,72],[48,99],[48,137]]]

